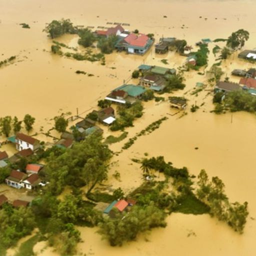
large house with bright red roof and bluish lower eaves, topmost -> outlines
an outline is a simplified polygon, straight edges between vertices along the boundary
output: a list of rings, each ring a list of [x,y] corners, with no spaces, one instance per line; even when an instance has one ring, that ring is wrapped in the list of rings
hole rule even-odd
[[[115,47],[117,50],[126,50],[128,53],[144,54],[153,44],[153,40],[145,34],[130,33],[119,40]]]

